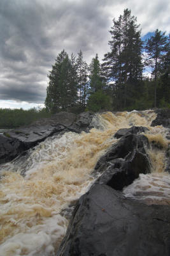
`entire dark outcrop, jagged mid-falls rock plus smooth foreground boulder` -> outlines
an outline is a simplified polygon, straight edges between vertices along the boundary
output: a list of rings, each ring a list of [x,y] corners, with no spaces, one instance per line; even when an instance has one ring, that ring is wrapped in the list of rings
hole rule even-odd
[[[139,173],[150,173],[150,145],[139,130],[120,131],[122,138],[97,162],[93,174],[102,175],[78,200],[57,256],[169,255],[169,205],[141,204],[122,193]]]

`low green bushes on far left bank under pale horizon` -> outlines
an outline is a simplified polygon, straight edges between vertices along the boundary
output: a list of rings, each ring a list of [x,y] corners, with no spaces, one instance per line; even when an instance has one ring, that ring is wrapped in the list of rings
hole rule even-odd
[[[15,128],[22,125],[28,125],[39,118],[50,117],[50,113],[43,109],[32,108],[29,110],[20,109],[2,109],[0,108],[0,129]]]

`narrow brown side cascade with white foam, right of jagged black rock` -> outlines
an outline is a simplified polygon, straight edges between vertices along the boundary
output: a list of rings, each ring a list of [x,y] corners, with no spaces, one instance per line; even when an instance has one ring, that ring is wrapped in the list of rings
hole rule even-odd
[[[170,175],[165,172],[166,149],[169,140],[166,139],[168,129],[157,126],[150,127],[145,136],[151,143],[147,150],[151,161],[151,173],[140,174],[139,178],[124,188],[127,198],[139,200],[145,204],[170,205]]]

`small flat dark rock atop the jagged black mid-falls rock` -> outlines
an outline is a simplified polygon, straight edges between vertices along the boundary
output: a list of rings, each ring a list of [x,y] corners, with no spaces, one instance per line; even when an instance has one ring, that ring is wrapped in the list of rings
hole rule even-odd
[[[119,129],[116,133],[115,133],[115,138],[119,139],[122,136],[128,135],[128,134],[138,134],[141,132],[146,132],[149,129],[143,126],[132,126],[131,128],[123,128],[123,129]]]

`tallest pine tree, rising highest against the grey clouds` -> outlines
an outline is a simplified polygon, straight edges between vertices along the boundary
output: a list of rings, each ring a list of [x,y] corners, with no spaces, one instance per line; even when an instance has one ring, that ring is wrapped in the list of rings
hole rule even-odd
[[[128,97],[131,97],[132,85],[142,79],[143,44],[141,31],[138,28],[136,17],[131,16],[131,10],[125,9],[124,15],[120,15],[118,20],[113,19],[109,41],[111,51],[104,55],[103,60],[106,77],[115,82],[113,84],[115,100],[120,100],[118,104],[124,104],[124,108],[127,106]]]

